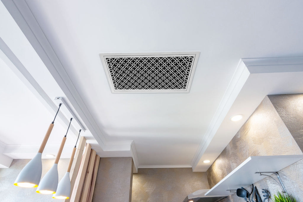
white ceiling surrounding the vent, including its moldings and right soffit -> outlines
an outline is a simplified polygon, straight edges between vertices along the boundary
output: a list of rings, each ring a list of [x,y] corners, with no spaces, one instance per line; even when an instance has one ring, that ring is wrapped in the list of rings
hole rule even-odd
[[[303,92],[296,77],[301,66],[297,73],[265,73],[239,63],[241,58],[302,56],[302,1],[2,2],[29,42],[18,42],[16,38],[25,37],[9,16],[2,18],[6,28],[0,37],[45,91],[48,98],[38,99],[41,108],[52,108],[45,99],[66,98],[87,127],[85,136],[98,142],[94,148],[101,156],[133,156],[137,168],[205,171],[266,94]],[[17,45],[32,45],[28,49],[37,53],[20,51]],[[200,52],[189,93],[113,94],[99,58],[100,53],[178,51]],[[37,63],[24,59],[32,57]],[[22,83],[17,83],[3,92],[18,97],[14,88]],[[25,100],[19,102],[28,106]],[[20,107],[18,114],[28,120],[26,110]],[[245,119],[232,123],[233,114]],[[31,117],[35,124],[48,124],[35,117],[39,113]],[[5,144],[24,144],[9,141],[13,132],[0,135]],[[29,140],[35,142],[35,136]],[[205,159],[211,163],[203,165]]]

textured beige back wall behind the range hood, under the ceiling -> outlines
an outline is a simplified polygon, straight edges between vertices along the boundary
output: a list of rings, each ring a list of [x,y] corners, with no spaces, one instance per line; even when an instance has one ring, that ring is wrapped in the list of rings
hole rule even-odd
[[[181,202],[199,189],[209,189],[205,172],[192,172],[191,168],[139,168],[133,174],[132,202]]]

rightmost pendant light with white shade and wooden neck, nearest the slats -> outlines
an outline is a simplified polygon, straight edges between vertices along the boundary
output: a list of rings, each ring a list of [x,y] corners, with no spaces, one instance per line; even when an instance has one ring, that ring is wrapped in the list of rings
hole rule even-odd
[[[80,132],[81,132],[81,129],[79,130],[78,139],[80,136]],[[78,142],[78,139],[77,139],[77,142]],[[70,197],[71,180],[69,178],[69,171],[71,170],[72,163],[74,160],[77,142],[75,144],[75,147],[73,148],[72,156],[71,156],[71,159],[69,160],[67,171],[66,171],[65,175],[62,177],[62,179],[60,180],[56,193],[53,194],[53,198],[55,198],[55,199],[68,199]]]

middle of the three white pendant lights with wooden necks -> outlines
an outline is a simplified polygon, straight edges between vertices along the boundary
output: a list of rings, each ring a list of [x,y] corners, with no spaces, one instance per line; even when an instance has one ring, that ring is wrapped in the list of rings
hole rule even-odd
[[[58,162],[66,141],[66,135],[69,129],[69,126],[71,125],[72,119],[69,122],[67,131],[65,136],[62,139],[57,157],[55,159],[54,165],[49,169],[49,171],[45,174],[45,176],[42,178],[42,180],[39,183],[39,186],[36,190],[37,193],[39,194],[55,194],[58,186]]]

